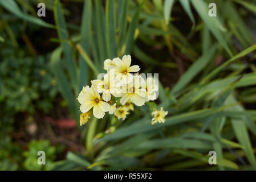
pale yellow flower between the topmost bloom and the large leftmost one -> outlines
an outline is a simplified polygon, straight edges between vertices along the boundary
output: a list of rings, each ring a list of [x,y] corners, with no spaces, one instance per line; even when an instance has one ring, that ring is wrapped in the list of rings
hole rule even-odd
[[[111,100],[111,94],[115,97],[121,97],[121,89],[116,86],[115,75],[105,74],[104,80],[92,80],[92,88],[102,94],[104,101]]]

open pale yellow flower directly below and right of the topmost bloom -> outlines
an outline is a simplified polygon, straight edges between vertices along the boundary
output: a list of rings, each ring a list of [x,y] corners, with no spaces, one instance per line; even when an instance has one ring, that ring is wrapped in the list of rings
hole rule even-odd
[[[136,106],[142,106],[146,101],[146,90],[141,88],[145,80],[136,75],[133,77],[132,82],[123,86],[123,97],[120,99],[120,103],[125,105],[126,102],[131,101]]]

